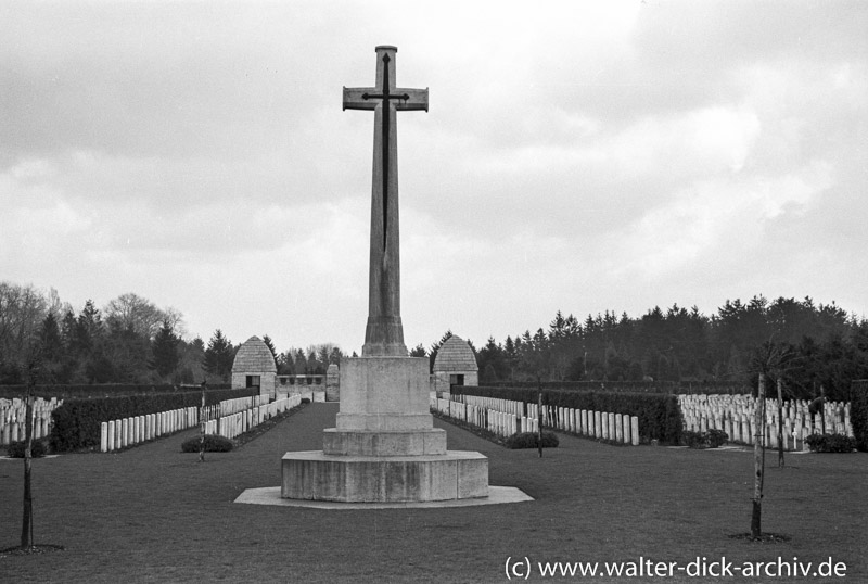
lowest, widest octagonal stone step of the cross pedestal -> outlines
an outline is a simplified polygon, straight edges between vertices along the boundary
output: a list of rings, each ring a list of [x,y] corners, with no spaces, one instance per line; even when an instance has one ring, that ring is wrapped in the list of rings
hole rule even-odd
[[[334,456],[286,453],[280,496],[345,503],[450,500],[488,495],[488,459],[480,453]]]

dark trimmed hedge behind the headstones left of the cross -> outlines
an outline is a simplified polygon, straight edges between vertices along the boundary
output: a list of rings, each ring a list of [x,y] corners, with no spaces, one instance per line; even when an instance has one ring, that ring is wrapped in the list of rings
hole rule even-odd
[[[205,392],[205,404],[210,406],[224,399],[258,394],[257,388],[209,390]],[[55,453],[90,448],[100,445],[102,422],[201,405],[201,391],[65,399],[51,414],[49,442]]]

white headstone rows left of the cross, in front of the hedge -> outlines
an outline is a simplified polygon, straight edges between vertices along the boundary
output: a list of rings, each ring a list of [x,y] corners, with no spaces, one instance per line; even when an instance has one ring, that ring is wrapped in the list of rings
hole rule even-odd
[[[282,396],[270,403],[266,399],[258,395],[237,397],[205,407],[202,411],[205,433],[231,440],[302,403],[299,394]],[[100,452],[113,452],[195,428],[200,423],[200,409],[191,406],[102,422]]]

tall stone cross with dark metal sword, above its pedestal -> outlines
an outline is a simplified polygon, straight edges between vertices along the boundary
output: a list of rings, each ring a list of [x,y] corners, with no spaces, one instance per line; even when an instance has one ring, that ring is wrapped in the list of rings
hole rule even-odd
[[[362,356],[406,356],[400,320],[400,245],[398,231],[399,111],[427,112],[427,89],[398,88],[395,47],[376,48],[376,86],[344,88],[344,110],[373,110],[373,182],[368,325]]]

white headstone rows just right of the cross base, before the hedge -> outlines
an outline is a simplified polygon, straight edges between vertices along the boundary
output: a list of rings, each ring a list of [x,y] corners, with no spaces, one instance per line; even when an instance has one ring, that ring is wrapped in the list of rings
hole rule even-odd
[[[611,411],[592,411],[481,397],[455,396],[456,399],[432,397],[431,407],[444,416],[484,428],[499,436],[519,432],[537,432],[541,414],[542,427],[620,444],[639,445],[639,418]]]

